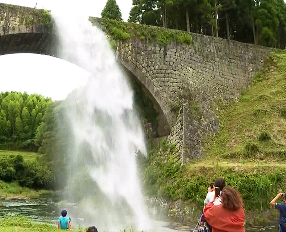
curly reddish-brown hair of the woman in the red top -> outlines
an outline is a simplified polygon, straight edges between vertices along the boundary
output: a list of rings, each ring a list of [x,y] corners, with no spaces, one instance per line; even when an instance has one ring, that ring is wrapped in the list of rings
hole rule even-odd
[[[221,193],[222,207],[236,211],[242,206],[242,199],[238,191],[230,186],[223,188]]]

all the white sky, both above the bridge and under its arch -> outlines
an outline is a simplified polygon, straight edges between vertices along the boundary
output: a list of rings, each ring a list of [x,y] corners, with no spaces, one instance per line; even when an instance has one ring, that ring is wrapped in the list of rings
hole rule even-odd
[[[54,9],[55,6],[69,4],[68,0],[0,0],[2,3],[26,7]],[[101,17],[107,0],[81,0],[89,16]],[[127,21],[132,0],[116,0],[124,21]],[[78,7],[78,6],[77,6]],[[87,73],[64,60],[39,54],[10,54],[0,56],[0,92],[26,91],[37,93],[52,100],[62,100],[75,88],[84,85]]]

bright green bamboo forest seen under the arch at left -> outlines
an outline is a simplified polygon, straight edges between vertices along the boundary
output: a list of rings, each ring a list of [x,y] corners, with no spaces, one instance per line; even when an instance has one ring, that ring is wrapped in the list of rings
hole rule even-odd
[[[0,148],[37,151],[35,135],[53,102],[26,92],[0,93]]]

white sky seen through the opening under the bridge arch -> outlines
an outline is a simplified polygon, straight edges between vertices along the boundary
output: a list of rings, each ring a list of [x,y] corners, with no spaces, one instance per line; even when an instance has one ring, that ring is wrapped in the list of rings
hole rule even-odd
[[[62,100],[75,88],[85,85],[88,73],[67,61],[39,54],[0,56],[0,92],[37,93]]]

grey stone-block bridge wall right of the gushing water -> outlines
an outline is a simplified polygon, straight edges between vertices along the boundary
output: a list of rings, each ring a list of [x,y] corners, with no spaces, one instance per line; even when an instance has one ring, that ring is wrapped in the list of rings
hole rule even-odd
[[[157,93],[182,161],[201,157],[202,138],[218,131],[212,103],[237,100],[251,84],[271,48],[192,34],[193,44],[157,43],[136,38],[117,46],[119,60],[136,67]],[[178,114],[172,105],[182,107]]]

